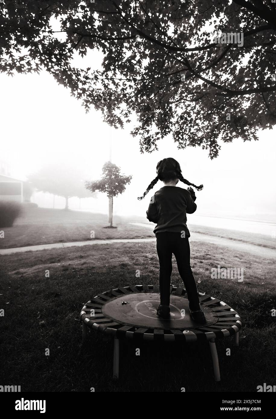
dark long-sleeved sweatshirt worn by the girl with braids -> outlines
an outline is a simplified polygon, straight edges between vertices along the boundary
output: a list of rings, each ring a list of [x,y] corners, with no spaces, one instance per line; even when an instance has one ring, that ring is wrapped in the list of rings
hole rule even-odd
[[[151,198],[147,219],[156,223],[154,233],[172,231],[180,233],[185,231],[185,237],[190,237],[187,228],[187,214],[196,210],[194,191],[178,188],[177,186],[163,186]]]

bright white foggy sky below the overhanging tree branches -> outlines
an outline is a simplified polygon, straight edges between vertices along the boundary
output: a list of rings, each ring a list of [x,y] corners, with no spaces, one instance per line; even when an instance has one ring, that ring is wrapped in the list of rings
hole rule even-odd
[[[88,60],[89,58],[86,58]],[[87,62],[86,62],[87,64]],[[125,129],[113,129],[102,122],[102,115],[91,109],[85,114],[81,102],[70,91],[43,72],[41,75],[0,74],[2,86],[1,157],[11,163],[11,175],[25,179],[49,161],[69,161],[73,167],[86,171],[89,179],[98,179],[102,165],[109,160],[112,138],[112,162],[133,180],[122,196],[115,199],[114,212],[122,215],[143,215],[151,194],[139,202],[156,176],[156,164],[165,157],[179,161],[182,174],[194,184],[203,184],[197,192],[197,215],[245,217],[272,220],[276,211],[275,157],[276,129],[260,131],[258,142],[234,140],[222,144],[219,157],[210,160],[201,148],[177,150],[171,137],[159,141],[159,150],[141,154],[138,138],[130,135],[135,120]],[[159,181],[153,189],[161,188]],[[177,186],[187,187],[184,184]],[[36,194],[32,201],[52,206],[52,197]],[[58,207],[64,199],[56,200]],[[71,200],[78,208],[78,200]],[[83,208],[107,212],[107,198],[83,200]]]

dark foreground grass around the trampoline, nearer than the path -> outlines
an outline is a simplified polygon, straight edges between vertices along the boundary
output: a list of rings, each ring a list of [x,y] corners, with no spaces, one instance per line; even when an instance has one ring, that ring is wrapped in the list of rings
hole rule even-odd
[[[21,385],[21,391],[94,387],[104,392],[171,392],[181,387],[196,392],[256,392],[257,385],[275,384],[276,318],[270,313],[276,308],[274,261],[199,242],[191,243],[191,253],[198,291],[223,300],[242,317],[240,347],[234,349],[233,338],[217,343],[221,384],[214,382],[208,343],[141,343],[141,355],[135,356],[137,343],[123,341],[118,382],[112,379],[112,342],[93,331],[81,344],[79,313],[94,295],[127,285],[158,284],[154,242],[2,256],[2,384]],[[244,282],[211,279],[211,267],[217,265],[243,267]],[[45,278],[46,269],[49,278]],[[140,278],[135,277],[136,269]],[[172,283],[182,284],[175,261]],[[227,348],[231,356],[226,355]]]

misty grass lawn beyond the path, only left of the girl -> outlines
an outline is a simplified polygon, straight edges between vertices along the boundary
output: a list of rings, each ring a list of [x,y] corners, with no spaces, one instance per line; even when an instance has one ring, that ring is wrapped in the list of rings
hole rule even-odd
[[[0,239],[0,248],[110,238],[153,237],[151,230],[137,228],[119,216],[113,217],[113,225],[117,228],[103,228],[108,225],[108,217],[103,214],[31,208],[15,221],[13,227],[3,228],[5,238]],[[94,239],[91,238],[92,230]]]

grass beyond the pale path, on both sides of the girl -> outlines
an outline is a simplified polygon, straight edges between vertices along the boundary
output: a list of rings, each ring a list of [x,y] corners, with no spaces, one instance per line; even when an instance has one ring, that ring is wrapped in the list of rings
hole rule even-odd
[[[64,209],[30,208],[26,209],[23,216],[15,221],[13,227],[3,228],[5,238],[0,239],[0,248],[110,238],[154,237],[154,225],[150,230],[149,228],[129,224],[130,222],[147,223],[146,217],[115,216],[113,221],[113,225],[117,228],[109,229],[104,228],[109,225],[107,215],[104,214],[64,211]],[[257,244],[258,246],[276,248],[276,239],[269,236],[193,225],[192,217],[190,221],[191,223],[188,217],[188,227],[191,233],[214,235]],[[94,239],[91,238],[91,230],[95,232]]]

